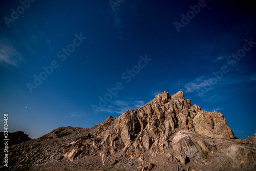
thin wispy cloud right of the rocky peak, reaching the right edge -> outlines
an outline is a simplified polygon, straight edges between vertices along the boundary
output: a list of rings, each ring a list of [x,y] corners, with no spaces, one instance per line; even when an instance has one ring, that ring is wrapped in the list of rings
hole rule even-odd
[[[245,87],[248,83],[256,81],[256,75],[243,75],[239,76],[236,74],[226,74],[223,75],[222,79],[217,79],[218,82],[215,84],[211,84],[213,76],[205,75],[190,80],[189,82],[185,82],[184,92],[185,93],[193,93],[196,96],[200,96],[201,98],[207,100],[207,102],[216,102],[223,101],[225,99],[231,98],[233,92],[244,91]],[[233,86],[238,85],[238,86]],[[230,87],[233,87],[230,89]],[[246,88],[247,91],[245,93],[255,93],[256,90],[253,88]],[[223,96],[223,93],[225,96]]]

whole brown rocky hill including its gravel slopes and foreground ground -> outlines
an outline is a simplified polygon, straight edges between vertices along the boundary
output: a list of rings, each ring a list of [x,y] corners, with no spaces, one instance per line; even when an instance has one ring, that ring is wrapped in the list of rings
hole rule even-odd
[[[256,133],[234,137],[221,113],[191,105],[182,92],[163,92],[91,129],[59,127],[12,145],[9,169],[255,170],[255,144]]]

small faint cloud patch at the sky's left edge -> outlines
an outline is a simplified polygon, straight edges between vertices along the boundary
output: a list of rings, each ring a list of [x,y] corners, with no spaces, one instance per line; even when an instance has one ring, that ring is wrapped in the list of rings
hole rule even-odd
[[[0,65],[11,65],[18,67],[20,61],[23,61],[22,55],[16,51],[9,40],[0,38]]]

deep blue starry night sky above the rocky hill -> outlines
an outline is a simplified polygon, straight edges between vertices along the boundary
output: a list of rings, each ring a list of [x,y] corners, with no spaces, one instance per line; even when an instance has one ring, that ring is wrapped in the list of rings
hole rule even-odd
[[[0,1],[0,126],[90,128],[161,92],[256,130],[253,1]]]

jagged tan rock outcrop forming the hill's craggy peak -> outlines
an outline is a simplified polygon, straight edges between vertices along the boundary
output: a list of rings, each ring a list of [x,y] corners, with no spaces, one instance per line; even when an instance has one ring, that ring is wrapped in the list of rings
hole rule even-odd
[[[173,96],[164,92],[141,108],[126,111],[117,118],[110,116],[92,127],[90,136],[72,142],[63,153],[73,161],[90,154],[89,149],[101,150],[104,163],[109,154],[117,151],[140,158],[146,151],[151,150],[154,154],[173,146],[180,153],[186,152],[189,160],[201,157],[203,153],[199,144],[184,132],[177,133],[172,139],[176,128],[210,138],[234,138],[221,113],[205,112],[196,104],[191,105],[190,99],[185,100],[182,92]],[[183,141],[192,146],[191,149],[184,149]]]

